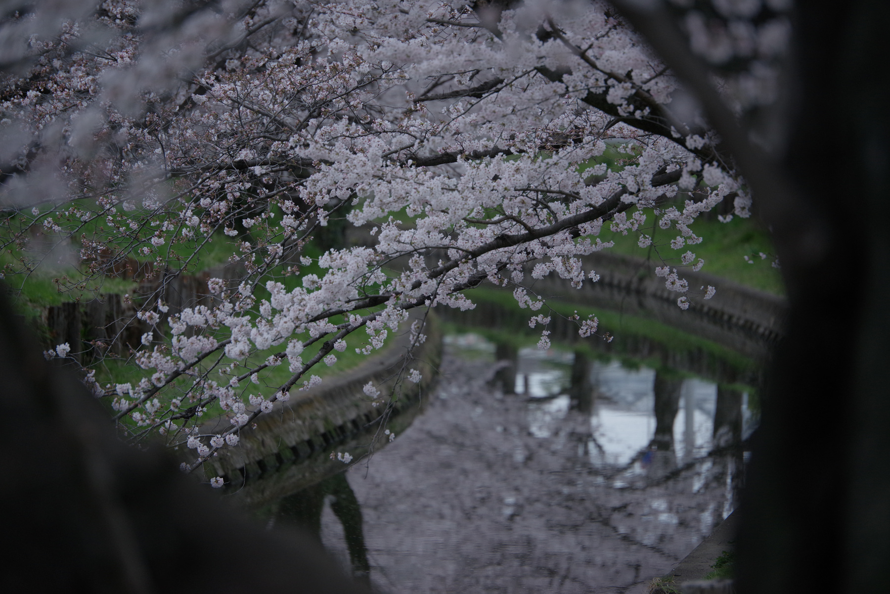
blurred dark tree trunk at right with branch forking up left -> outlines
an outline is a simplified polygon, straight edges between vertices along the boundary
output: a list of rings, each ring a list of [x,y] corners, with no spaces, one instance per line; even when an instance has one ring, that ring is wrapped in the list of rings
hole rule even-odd
[[[789,297],[740,509],[738,591],[886,591],[890,4],[797,3],[778,124],[788,142],[773,154],[720,105],[667,13],[643,4],[627,3],[628,20],[698,97],[748,178]]]

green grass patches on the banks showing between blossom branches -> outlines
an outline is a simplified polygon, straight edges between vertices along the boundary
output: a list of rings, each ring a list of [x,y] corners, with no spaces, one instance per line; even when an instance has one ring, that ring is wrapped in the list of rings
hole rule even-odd
[[[616,148],[611,147],[602,158],[592,159],[586,167],[592,167],[597,162],[606,162],[610,168],[619,170],[624,166],[624,162],[627,158],[632,158],[632,155],[627,155],[626,153],[622,153]],[[581,167],[580,170],[583,171],[586,167]],[[404,213],[397,213],[396,217],[405,222],[409,222],[409,219],[404,216]],[[652,265],[660,265],[662,263],[677,263],[679,256],[684,253],[686,249],[691,249],[698,257],[705,259],[706,264],[703,269],[705,272],[740,282],[741,284],[748,285],[755,289],[761,289],[775,294],[781,294],[782,292],[781,278],[778,271],[770,266],[771,259],[761,260],[759,257],[756,257],[758,252],[771,254],[773,250],[770,246],[768,234],[758,227],[758,225],[751,219],[740,219],[739,217],[735,217],[732,222],[728,224],[722,224],[713,219],[698,220],[692,224],[692,230],[696,234],[705,238],[705,241],[697,246],[689,246],[681,248],[680,250],[673,250],[668,245],[669,240],[676,236],[676,231],[663,231],[659,229],[655,225],[655,217],[652,216],[651,212],[647,213],[648,228],[641,230],[641,232],[646,232],[654,239],[653,245],[649,248],[639,248],[637,246],[639,232],[632,232],[627,236],[624,236],[620,233],[609,231],[608,227],[608,224],[603,226],[600,238],[603,241],[614,241],[615,246],[611,249],[615,252],[626,254],[628,256],[648,258],[653,263]],[[101,232],[98,227],[86,231]],[[200,257],[192,260],[192,263],[188,267],[189,273],[198,273],[207,268],[225,264],[229,260],[229,257],[236,252],[235,244],[236,240],[225,237],[223,234],[218,234],[213,240],[205,244]],[[77,246],[74,246],[74,248],[77,248]],[[169,255],[174,262],[178,261],[182,263],[184,260],[192,256],[193,251],[194,248],[190,245],[174,244],[169,248]],[[320,253],[321,250],[318,247],[318,244],[314,242],[308,244],[305,250],[305,255],[313,258],[317,258]],[[5,254],[4,262],[0,264],[11,262],[14,256],[16,255]],[[134,254],[134,256],[136,255]],[[754,264],[748,264],[744,259],[744,256],[749,256],[750,261],[754,262]],[[751,256],[754,257],[751,258]],[[137,259],[144,261],[146,258],[137,257]],[[300,276],[303,274],[320,274],[322,271],[318,268],[317,264],[311,264],[309,266],[303,266],[300,275],[286,277],[280,274],[282,272],[283,271],[280,270],[275,271],[275,276],[277,277],[277,280],[283,282],[286,287],[290,289],[300,283]],[[47,269],[46,271],[38,269],[24,280],[12,277],[7,278],[7,282],[10,282],[12,284],[12,289],[18,293],[19,297],[17,305],[20,311],[31,318],[37,317],[40,310],[47,305],[59,305],[62,301],[68,300],[89,300],[101,293],[132,293],[135,289],[134,282],[123,281],[120,279],[101,279],[99,281],[93,281],[93,283],[82,282],[72,290],[63,291],[60,289],[60,286],[65,284],[66,279],[76,280],[77,274],[77,269],[73,267],[69,267],[68,269],[57,267],[56,269]],[[62,280],[61,284],[57,279]],[[263,292],[264,289],[261,289],[261,294],[257,297],[263,298]],[[493,300],[506,307],[515,307],[512,297],[498,291],[475,289],[473,291],[473,299]],[[690,337],[689,335],[685,335],[678,330],[671,329],[662,324],[658,324],[657,322],[637,319],[627,315],[619,316],[617,313],[603,311],[582,312],[581,310],[585,309],[583,307],[561,304],[558,302],[551,302],[548,305],[554,310],[554,313],[563,315],[570,315],[575,310],[578,310],[578,313],[582,316],[586,316],[587,313],[595,313],[601,321],[601,328],[608,329],[617,337],[622,335],[627,336],[627,334],[643,335],[659,341],[667,341],[670,344],[675,344],[677,346],[692,346],[694,343],[695,345],[705,348],[708,351],[712,351],[714,354],[719,354],[728,360],[738,359],[738,355],[734,355],[726,349],[721,349],[721,347],[716,345],[710,345],[707,341]],[[516,335],[515,333],[510,333],[510,336],[507,338],[521,342],[523,346],[526,342],[534,343],[537,341],[535,335],[531,334]],[[364,355],[355,354],[354,346],[356,345],[351,345],[343,354],[337,354],[339,362],[335,367],[328,368],[327,366],[321,365],[320,368],[316,368],[317,370],[314,372],[321,377],[324,377],[331,372],[348,369],[354,365],[360,364],[365,357]],[[313,349],[317,348],[318,346],[314,346],[307,349],[306,354],[303,355],[303,359],[306,360],[311,357],[314,352]],[[268,353],[257,354],[247,363],[250,364],[264,360],[269,354],[278,352],[279,350],[280,347],[277,347],[271,349]],[[223,365],[227,363],[229,362],[223,359]],[[734,364],[744,366],[747,362],[735,361]],[[242,367],[240,369],[244,368]],[[141,371],[142,370],[138,370],[132,364],[127,364],[126,362],[108,360],[101,364],[97,375],[103,381],[123,383],[142,377]],[[282,365],[279,368],[271,370],[271,372],[263,378],[263,382],[268,384],[269,387],[277,386],[283,383],[288,375],[289,372],[287,371],[287,367]],[[181,389],[187,389],[185,381],[185,379],[182,380]]]

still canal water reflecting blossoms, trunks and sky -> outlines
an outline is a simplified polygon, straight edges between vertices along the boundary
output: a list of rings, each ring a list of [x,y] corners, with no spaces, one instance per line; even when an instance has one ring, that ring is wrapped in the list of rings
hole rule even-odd
[[[413,424],[268,522],[309,529],[381,592],[645,592],[732,512],[748,400],[674,370],[452,334]]]

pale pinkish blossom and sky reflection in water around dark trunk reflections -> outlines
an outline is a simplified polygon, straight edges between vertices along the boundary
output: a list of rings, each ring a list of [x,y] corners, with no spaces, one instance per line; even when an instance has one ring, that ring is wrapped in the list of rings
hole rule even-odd
[[[548,584],[559,582],[565,594],[634,591],[665,574],[732,510],[730,466],[702,452],[713,384],[690,383],[693,453],[710,463],[681,466],[674,452],[647,449],[655,425],[653,370],[592,362],[595,406],[613,412],[593,427],[557,378],[570,377],[571,352],[520,351],[517,375],[530,383],[525,399],[487,384],[492,366],[483,349],[448,342],[466,359],[446,354],[441,365],[449,381],[438,397],[400,443],[376,453],[371,473],[347,471],[375,559],[374,585],[382,588],[385,579],[393,594],[435,591],[441,583],[472,591],[485,575],[491,589],[554,591]],[[546,374],[553,377],[545,383]],[[618,443],[627,435],[610,421],[622,412],[635,415],[634,443]],[[682,441],[682,419],[676,431]],[[595,442],[607,452],[620,445],[620,459],[596,460]],[[322,540],[348,563],[337,523],[323,515]],[[485,573],[491,567],[497,571]]]

